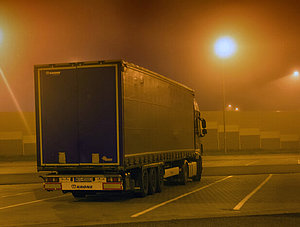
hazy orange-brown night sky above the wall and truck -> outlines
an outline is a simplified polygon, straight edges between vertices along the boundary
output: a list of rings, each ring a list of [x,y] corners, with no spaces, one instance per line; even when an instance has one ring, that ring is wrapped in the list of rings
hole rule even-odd
[[[0,67],[24,111],[34,111],[33,65],[124,59],[196,91],[201,110],[300,110],[300,2],[0,1]],[[216,39],[237,53],[220,60]],[[16,111],[0,77],[0,112]]]

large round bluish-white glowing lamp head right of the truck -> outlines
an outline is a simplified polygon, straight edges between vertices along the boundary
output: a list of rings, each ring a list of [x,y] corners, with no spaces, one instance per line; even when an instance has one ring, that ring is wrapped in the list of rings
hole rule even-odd
[[[223,36],[216,41],[214,50],[218,57],[229,58],[236,52],[235,41],[229,36]]]

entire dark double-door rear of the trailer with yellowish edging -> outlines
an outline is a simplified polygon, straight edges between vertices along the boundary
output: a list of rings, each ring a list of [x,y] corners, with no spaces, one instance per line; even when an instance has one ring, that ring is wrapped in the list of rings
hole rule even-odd
[[[40,163],[119,165],[117,64],[38,69]]]

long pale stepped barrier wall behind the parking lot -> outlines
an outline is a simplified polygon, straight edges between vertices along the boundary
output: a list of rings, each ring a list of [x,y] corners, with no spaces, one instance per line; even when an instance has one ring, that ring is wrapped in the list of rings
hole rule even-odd
[[[206,151],[224,150],[224,123],[221,111],[202,111],[207,120],[204,137]],[[28,134],[20,115],[0,112],[0,156],[34,155],[35,117],[24,116],[32,130]],[[299,151],[300,112],[226,112],[226,146],[228,151]]]

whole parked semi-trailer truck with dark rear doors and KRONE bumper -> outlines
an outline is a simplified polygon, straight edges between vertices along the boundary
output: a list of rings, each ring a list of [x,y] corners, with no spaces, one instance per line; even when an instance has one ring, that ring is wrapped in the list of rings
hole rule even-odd
[[[124,60],[34,66],[37,170],[75,198],[200,181],[206,122],[195,92]]]

